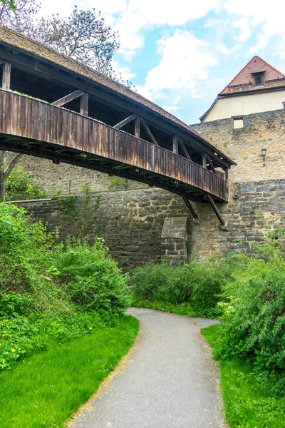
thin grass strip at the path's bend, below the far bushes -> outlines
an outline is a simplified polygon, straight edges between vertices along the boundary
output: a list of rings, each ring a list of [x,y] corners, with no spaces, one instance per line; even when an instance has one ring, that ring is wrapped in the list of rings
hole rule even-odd
[[[173,305],[172,303],[163,302],[162,300],[142,300],[133,297],[133,307],[147,307],[149,309],[162,310],[176,315],[187,315],[187,317],[200,317],[202,316],[197,311],[192,309],[189,303],[180,303]]]

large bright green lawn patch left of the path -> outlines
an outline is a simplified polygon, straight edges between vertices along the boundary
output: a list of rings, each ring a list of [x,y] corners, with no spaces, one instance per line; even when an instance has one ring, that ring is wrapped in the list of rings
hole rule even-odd
[[[50,341],[0,374],[1,428],[59,428],[98,389],[138,334],[129,315],[66,345]]]

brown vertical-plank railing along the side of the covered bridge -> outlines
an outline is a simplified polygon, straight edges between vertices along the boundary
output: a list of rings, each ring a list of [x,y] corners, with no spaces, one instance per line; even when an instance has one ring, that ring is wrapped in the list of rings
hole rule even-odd
[[[201,165],[92,118],[10,91],[0,90],[0,133],[133,165],[228,200],[227,181]],[[159,180],[155,185],[160,187]]]

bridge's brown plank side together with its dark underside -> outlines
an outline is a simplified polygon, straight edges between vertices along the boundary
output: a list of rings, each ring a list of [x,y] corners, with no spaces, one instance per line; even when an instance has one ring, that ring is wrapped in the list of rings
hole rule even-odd
[[[0,149],[137,180],[190,200],[228,200],[227,180],[212,170],[93,118],[4,90]]]

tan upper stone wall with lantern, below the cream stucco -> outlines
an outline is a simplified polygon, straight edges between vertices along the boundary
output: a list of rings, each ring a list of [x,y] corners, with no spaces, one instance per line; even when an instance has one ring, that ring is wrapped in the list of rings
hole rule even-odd
[[[234,119],[191,125],[237,163],[229,171],[230,182],[285,177],[285,109],[243,116],[243,128]],[[266,148],[263,166],[261,148]]]

